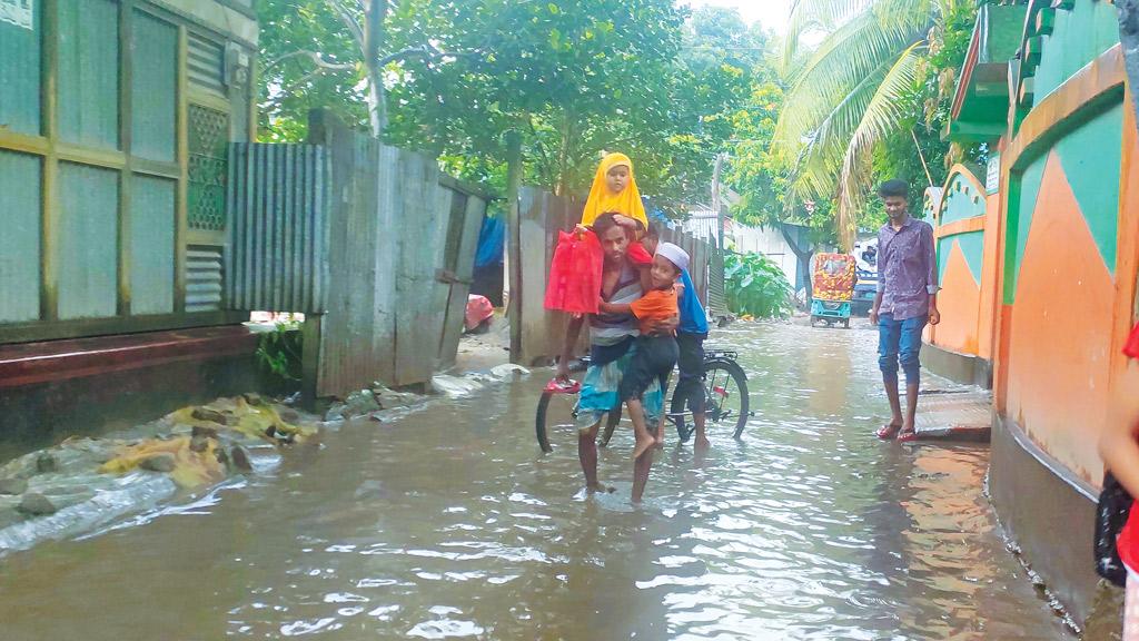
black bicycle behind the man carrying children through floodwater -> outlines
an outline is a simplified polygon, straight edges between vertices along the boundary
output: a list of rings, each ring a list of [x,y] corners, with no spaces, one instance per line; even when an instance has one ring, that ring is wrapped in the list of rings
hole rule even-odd
[[[734,350],[708,348],[704,351],[705,429],[710,433],[718,428],[729,429],[736,439],[743,436],[747,420],[752,416],[747,374],[736,362],[738,354]],[[582,364],[588,366],[589,358],[582,359]],[[576,432],[577,391],[576,389],[560,391],[550,386],[542,391],[534,417],[534,431],[542,452],[547,454],[554,452],[554,446],[550,444],[551,433],[567,430]],[[680,441],[686,443],[691,438],[696,427],[686,420],[691,416],[691,412],[680,412],[678,405],[674,404],[665,416],[675,425]],[[621,419],[621,405],[608,412],[599,440],[601,447],[609,444]]]

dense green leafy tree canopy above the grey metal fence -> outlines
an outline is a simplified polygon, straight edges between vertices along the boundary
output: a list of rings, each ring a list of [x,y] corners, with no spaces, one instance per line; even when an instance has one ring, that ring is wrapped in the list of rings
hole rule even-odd
[[[264,138],[303,138],[316,107],[368,122],[368,73],[344,26],[345,10],[363,15],[350,5],[262,0]],[[497,193],[507,131],[523,136],[525,181],[560,194],[582,194],[600,154],[622,151],[675,216],[707,200],[770,47],[735,10],[688,16],[673,0],[390,0],[383,38],[382,58],[432,52],[383,68],[387,143]]]

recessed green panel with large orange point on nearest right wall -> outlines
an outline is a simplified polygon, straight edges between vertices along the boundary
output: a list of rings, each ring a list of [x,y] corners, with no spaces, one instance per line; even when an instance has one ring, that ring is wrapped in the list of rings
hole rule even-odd
[[[1122,97],[1121,97],[1122,98]],[[1123,104],[1113,100],[1024,159],[1009,203],[1005,414],[1089,481],[1106,425],[1120,219]],[[1105,179],[1105,177],[1108,177]]]

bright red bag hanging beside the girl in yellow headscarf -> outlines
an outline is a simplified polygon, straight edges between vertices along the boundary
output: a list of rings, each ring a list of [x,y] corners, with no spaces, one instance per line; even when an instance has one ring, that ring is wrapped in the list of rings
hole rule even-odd
[[[546,286],[546,309],[597,314],[604,260],[601,243],[592,232],[559,232]]]

